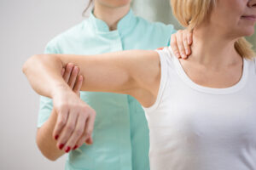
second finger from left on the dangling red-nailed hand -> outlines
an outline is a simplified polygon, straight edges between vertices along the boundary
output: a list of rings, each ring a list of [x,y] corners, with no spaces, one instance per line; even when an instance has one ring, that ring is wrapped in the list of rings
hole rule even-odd
[[[78,114],[76,112],[70,112],[67,118],[67,124],[61,131],[61,135],[57,142],[57,147],[62,150],[66,146],[67,140],[70,139],[71,134],[76,126]],[[71,149],[71,148],[70,148]],[[70,150],[69,149],[69,150]],[[68,150],[65,150],[68,152]]]

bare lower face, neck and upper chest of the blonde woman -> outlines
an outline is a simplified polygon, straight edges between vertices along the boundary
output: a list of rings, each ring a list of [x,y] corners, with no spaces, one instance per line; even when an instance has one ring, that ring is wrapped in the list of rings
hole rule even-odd
[[[234,43],[239,37],[251,36],[256,15],[255,0],[218,0],[216,8],[196,27],[193,54],[180,60],[191,80],[210,88],[227,88],[239,82],[242,58]]]

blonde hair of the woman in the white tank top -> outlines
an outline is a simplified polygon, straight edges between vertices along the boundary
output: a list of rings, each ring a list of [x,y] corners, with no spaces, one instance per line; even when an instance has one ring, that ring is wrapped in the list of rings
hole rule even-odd
[[[171,0],[172,13],[182,26],[193,30],[207,18],[215,3],[216,0]],[[252,44],[244,37],[235,42],[235,48],[243,58],[253,59],[255,57]]]

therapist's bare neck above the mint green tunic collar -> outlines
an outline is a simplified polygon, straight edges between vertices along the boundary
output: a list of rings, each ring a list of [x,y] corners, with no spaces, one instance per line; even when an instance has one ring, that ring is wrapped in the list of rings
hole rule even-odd
[[[130,10],[130,3],[123,7],[107,7],[101,3],[95,3],[94,15],[97,19],[103,20],[109,27],[110,31],[116,30],[119,20]]]

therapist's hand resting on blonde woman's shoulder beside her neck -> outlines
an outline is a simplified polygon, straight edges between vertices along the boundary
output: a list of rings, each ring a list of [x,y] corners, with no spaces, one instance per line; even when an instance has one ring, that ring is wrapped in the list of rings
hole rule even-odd
[[[179,30],[177,33],[172,34],[171,47],[173,53],[177,58],[187,59],[191,54],[191,48],[193,42],[193,32],[186,30]]]

